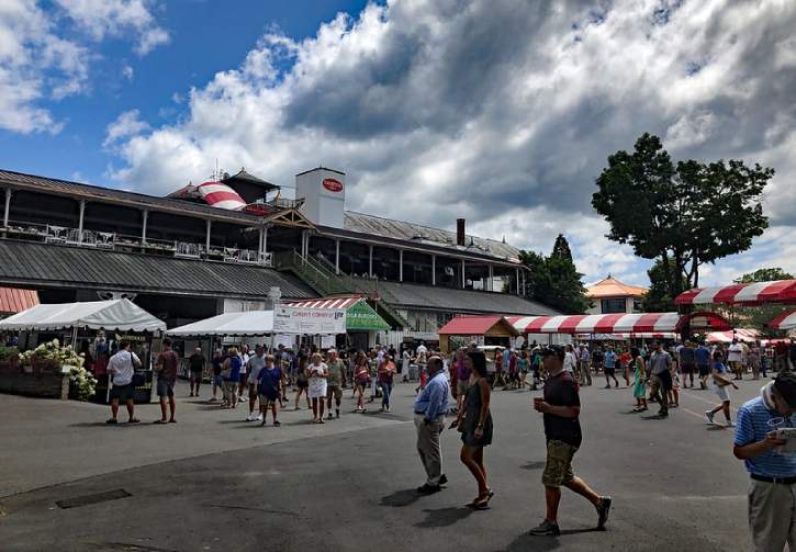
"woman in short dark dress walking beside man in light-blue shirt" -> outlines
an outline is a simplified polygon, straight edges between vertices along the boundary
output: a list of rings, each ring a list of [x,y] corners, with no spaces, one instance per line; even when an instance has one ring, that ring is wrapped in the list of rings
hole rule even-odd
[[[485,509],[494,495],[486,484],[484,467],[484,447],[492,443],[492,414],[490,413],[490,393],[486,380],[486,357],[482,351],[469,351],[464,365],[470,369],[470,386],[459,416],[451,424],[461,432],[460,459],[470,470],[479,486],[479,495],[468,504],[470,508]]]

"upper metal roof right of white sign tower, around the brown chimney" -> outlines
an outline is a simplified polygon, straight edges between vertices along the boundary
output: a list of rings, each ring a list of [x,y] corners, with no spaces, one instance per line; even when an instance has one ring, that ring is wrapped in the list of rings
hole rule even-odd
[[[326,229],[326,228],[324,228]],[[393,221],[381,216],[366,215],[346,211],[344,229],[358,234],[399,239],[417,247],[437,247],[459,255],[492,257],[501,260],[518,262],[519,249],[495,239],[480,238],[468,234],[464,246],[456,245],[456,232],[431,228],[416,223]]]

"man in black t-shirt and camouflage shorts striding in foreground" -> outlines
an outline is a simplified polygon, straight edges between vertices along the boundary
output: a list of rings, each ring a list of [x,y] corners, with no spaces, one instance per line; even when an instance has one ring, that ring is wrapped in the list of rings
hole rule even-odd
[[[534,408],[543,414],[547,462],[541,483],[545,485],[547,514],[545,520],[530,530],[536,536],[559,536],[558,509],[561,502],[561,486],[578,493],[592,503],[597,510],[597,528],[604,529],[608,520],[612,499],[599,496],[572,472],[572,458],[581,446],[583,436],[579,417],[581,399],[578,383],[563,369],[564,350],[552,347],[542,351],[545,370],[543,398],[534,398]]]

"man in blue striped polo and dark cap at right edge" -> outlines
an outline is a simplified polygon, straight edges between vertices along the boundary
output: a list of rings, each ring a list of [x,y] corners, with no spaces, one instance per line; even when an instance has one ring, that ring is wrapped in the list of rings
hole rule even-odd
[[[732,452],[752,478],[749,528],[755,552],[796,550],[796,454],[776,429],[796,427],[796,374],[781,373],[738,410]]]

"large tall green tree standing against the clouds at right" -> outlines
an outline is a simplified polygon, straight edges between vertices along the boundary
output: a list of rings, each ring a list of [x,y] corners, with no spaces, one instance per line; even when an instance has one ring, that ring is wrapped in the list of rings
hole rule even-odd
[[[608,157],[592,206],[610,224],[608,238],[658,259],[668,293],[699,284],[699,267],[749,249],[767,218],[760,201],[774,169],[743,161],[674,165],[659,137]],[[685,281],[675,274],[683,274]]]

